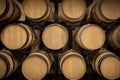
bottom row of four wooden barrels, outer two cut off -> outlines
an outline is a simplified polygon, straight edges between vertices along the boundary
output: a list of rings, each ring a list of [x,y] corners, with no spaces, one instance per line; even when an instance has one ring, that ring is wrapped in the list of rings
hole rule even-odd
[[[22,63],[22,74],[28,80],[41,80],[50,72],[53,56],[45,51],[31,52]],[[8,50],[0,51],[0,79],[12,74],[19,61]],[[108,50],[100,50],[91,60],[93,70],[106,79],[120,77],[120,58]],[[69,80],[81,79],[87,70],[86,60],[81,52],[66,51],[59,55],[59,68]],[[60,73],[61,73],[60,72]]]

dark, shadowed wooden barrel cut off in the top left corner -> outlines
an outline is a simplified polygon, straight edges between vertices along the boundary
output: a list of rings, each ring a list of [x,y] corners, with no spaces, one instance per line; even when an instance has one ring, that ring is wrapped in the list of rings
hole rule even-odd
[[[12,0],[0,0],[0,21],[16,21],[20,18],[21,11]]]

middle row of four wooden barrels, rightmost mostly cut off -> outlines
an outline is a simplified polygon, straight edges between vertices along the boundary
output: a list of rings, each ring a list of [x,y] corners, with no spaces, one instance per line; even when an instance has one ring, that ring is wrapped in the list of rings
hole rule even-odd
[[[86,24],[77,27],[77,31],[73,32],[73,44],[75,42],[86,50],[96,50],[101,48],[105,40],[108,46],[120,49],[120,25],[114,26],[106,35],[105,31],[96,24]],[[61,24],[50,24],[45,27],[40,36],[40,30],[33,30],[27,24],[14,23],[4,27],[1,31],[1,42],[11,50],[22,50],[40,44],[42,38],[43,44],[51,50],[59,50],[67,46],[69,41],[69,33],[65,26]]]

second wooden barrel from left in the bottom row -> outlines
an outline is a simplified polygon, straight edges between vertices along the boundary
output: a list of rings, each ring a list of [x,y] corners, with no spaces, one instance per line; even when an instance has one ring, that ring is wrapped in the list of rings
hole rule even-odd
[[[22,64],[22,73],[28,80],[41,80],[50,70],[52,60],[45,52],[31,53]]]

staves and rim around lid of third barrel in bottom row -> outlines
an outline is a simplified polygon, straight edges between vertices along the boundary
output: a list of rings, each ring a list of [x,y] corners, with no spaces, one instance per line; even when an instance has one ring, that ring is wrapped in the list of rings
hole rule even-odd
[[[74,54],[72,54],[71,52],[74,52]],[[79,54],[78,52],[76,52],[76,51],[74,51],[74,50],[66,51],[66,52],[64,52],[62,55],[60,55],[60,57],[59,57],[59,67],[60,67],[60,70],[62,71],[63,74],[64,74],[64,71],[62,70],[62,65],[63,65],[64,61],[65,61],[67,58],[71,57],[71,56],[79,57],[79,58],[80,58],[81,60],[83,60],[83,62],[85,63],[84,57],[83,57],[81,54]],[[82,77],[84,76],[84,74],[86,73],[86,63],[84,64],[84,66],[85,66],[84,73],[83,73],[81,76],[79,76],[79,79],[82,78]],[[65,76],[65,74],[64,74],[64,76]],[[67,79],[72,80],[70,77],[67,77],[67,76],[65,76],[65,77],[66,77]],[[76,79],[78,79],[78,78],[76,77]],[[76,80],[76,79],[75,79],[75,80]],[[74,79],[73,79],[73,80],[74,80]]]

